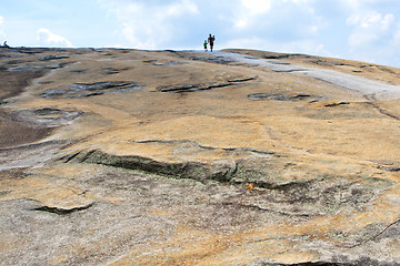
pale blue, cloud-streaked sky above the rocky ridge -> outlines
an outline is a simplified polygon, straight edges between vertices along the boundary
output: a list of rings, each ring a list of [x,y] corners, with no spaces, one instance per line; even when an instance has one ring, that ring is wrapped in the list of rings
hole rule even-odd
[[[400,68],[399,0],[1,0],[11,47],[306,53]]]

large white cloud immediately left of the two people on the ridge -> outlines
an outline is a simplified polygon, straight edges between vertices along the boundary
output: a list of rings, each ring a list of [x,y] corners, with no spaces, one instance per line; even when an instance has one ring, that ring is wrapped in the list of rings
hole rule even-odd
[[[133,48],[157,49],[171,41],[183,17],[199,13],[191,0],[180,0],[167,4],[150,1],[102,1],[111,16],[120,23],[119,32]],[[179,23],[179,24],[174,24]]]

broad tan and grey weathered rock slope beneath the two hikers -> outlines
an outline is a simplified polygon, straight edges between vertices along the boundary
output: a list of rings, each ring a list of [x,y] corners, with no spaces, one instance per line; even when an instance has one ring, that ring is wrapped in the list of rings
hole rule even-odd
[[[399,69],[117,49],[0,69],[1,265],[400,265]]]

